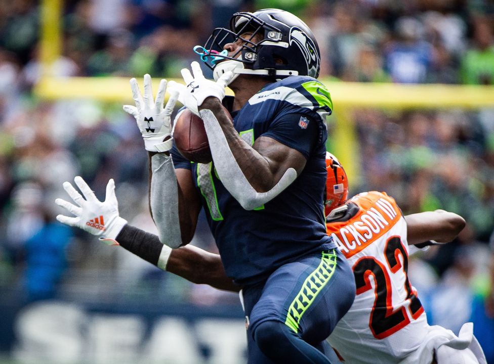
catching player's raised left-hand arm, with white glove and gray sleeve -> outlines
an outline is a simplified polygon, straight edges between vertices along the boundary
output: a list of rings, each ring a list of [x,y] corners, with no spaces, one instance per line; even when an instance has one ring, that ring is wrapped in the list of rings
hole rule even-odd
[[[135,78],[131,79],[131,88],[136,106],[126,105],[123,110],[136,118],[144,145],[149,152],[151,214],[158,228],[159,240],[171,248],[178,248],[188,244],[194,235],[199,213],[196,205],[200,202],[197,198],[196,203],[193,203],[197,192],[189,189],[190,183],[187,184],[191,176],[187,178],[188,176],[179,176],[175,173],[169,153],[173,145],[171,115],[179,92],[171,88],[170,99],[163,108],[167,89],[166,80],[161,80],[156,100],[153,98],[151,76],[148,74],[144,75],[144,97]],[[190,196],[191,201],[187,201],[184,196]]]

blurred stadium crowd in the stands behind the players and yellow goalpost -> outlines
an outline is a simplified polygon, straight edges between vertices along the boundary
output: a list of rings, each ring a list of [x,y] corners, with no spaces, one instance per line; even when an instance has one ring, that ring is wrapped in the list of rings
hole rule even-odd
[[[67,0],[55,76],[179,77],[214,27],[238,10],[280,8],[313,29],[320,77],[362,82],[494,84],[489,0]],[[148,231],[147,155],[120,104],[45,102],[32,87],[39,4],[0,0],[0,292],[22,302],[168,300],[237,304],[109,248],[54,219],[65,180],[104,197],[115,178],[120,215]],[[211,74],[210,74],[211,76]],[[330,88],[331,92],[331,88]],[[433,324],[473,320],[494,342],[494,110],[354,110],[361,176],[351,195],[385,191],[405,214],[445,209],[467,228],[410,263]],[[331,120],[330,120],[331,124]],[[352,183],[352,181],[350,181]],[[215,251],[201,218],[194,244]],[[490,246],[490,248],[489,248]],[[481,342],[482,343],[482,342]],[[484,345],[494,360],[494,347]],[[489,352],[490,350],[490,352]],[[494,361],[489,361],[494,362]]]

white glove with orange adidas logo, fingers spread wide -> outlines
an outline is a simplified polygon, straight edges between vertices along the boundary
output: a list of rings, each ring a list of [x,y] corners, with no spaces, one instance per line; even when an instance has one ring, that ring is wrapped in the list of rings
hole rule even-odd
[[[88,184],[82,177],[74,178],[75,184],[86,199],[83,198],[69,182],[63,183],[63,188],[69,194],[70,198],[78,205],[72,205],[62,199],[56,199],[55,203],[62,206],[75,217],[58,215],[57,220],[77,228],[83,229],[102,239],[107,245],[114,245],[117,235],[127,224],[127,220],[120,217],[118,213],[118,201],[115,196],[115,182],[113,178],[108,181],[106,186],[105,202],[100,202]]]

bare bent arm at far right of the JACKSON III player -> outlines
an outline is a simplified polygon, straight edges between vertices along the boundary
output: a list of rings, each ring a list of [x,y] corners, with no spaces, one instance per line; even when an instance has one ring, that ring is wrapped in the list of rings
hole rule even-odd
[[[449,243],[465,228],[465,220],[444,210],[427,211],[405,216],[408,245],[433,240]]]

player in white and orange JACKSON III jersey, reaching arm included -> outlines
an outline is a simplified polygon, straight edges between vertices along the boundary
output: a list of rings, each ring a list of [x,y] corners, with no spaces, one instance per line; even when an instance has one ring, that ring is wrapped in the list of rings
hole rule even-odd
[[[427,324],[417,291],[407,277],[408,253],[451,241],[463,230],[463,218],[442,210],[402,216],[394,200],[378,192],[359,194],[345,203],[345,171],[330,153],[326,165],[327,233],[334,234],[339,249],[348,257],[357,283],[352,307],[327,339],[340,359],[355,364],[430,364],[435,358],[439,364],[485,363],[471,324],[464,326],[459,338],[449,330]],[[86,211],[87,216],[120,218],[112,180],[104,203],[95,199],[80,177],[76,183],[91,202],[65,183],[70,196],[84,205],[78,208],[58,200],[59,205],[81,216]],[[79,227],[100,234],[80,221]],[[219,255],[193,246],[172,250],[157,236],[130,225],[123,226],[116,240],[141,258],[193,283],[233,292],[241,288],[227,277]]]

